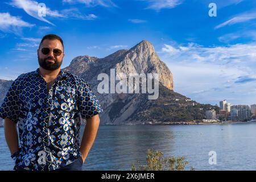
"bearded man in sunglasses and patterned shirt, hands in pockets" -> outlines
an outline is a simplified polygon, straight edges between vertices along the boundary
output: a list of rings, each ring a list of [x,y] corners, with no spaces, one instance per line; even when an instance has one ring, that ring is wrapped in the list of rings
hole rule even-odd
[[[102,107],[84,79],[60,69],[63,57],[63,40],[44,36],[39,68],[16,78],[0,107],[16,170],[81,170],[96,138]]]

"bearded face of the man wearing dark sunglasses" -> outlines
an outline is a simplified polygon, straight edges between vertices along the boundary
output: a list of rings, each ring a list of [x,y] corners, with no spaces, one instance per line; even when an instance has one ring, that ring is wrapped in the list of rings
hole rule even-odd
[[[44,53],[42,52],[42,49],[46,49],[49,48],[50,51],[44,51]],[[56,51],[58,51],[57,49],[59,49],[61,51],[60,55],[56,55]],[[60,68],[62,61],[63,61],[63,57],[64,57],[64,52],[63,52],[63,46],[61,44],[61,42],[57,39],[54,40],[49,40],[49,39],[45,39],[41,46],[38,49],[38,63],[40,65],[40,67],[47,69],[47,70],[56,70],[58,68]]]

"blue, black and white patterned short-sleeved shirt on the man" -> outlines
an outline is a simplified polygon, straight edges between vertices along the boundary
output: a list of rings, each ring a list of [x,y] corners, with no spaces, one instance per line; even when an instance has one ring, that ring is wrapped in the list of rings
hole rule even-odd
[[[81,156],[80,116],[86,119],[102,111],[83,78],[61,69],[47,92],[38,68],[14,80],[0,106],[0,117],[18,123],[16,166],[42,171],[75,162]]]

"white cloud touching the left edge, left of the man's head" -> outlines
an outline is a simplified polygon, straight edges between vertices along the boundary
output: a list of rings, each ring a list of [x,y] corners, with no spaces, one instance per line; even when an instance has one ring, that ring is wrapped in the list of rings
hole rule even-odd
[[[9,13],[0,13],[0,30],[20,34],[23,27],[33,27],[34,24],[24,22],[19,16],[12,16]]]

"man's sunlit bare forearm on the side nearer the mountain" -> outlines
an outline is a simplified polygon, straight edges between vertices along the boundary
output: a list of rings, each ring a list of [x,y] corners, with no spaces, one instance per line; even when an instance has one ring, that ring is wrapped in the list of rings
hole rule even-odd
[[[98,114],[94,115],[92,118],[86,119],[86,126],[84,129],[84,134],[82,135],[82,141],[80,146],[80,152],[82,154],[83,162],[85,161],[90,151],[90,148],[93,145],[99,125],[100,125],[100,117],[98,117]]]

